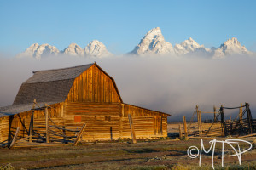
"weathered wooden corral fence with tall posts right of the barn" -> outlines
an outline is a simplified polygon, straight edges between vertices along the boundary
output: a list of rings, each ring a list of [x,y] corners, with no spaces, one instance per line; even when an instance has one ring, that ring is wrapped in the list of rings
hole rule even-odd
[[[239,109],[239,114],[236,118],[234,120],[224,120],[224,110],[233,109]],[[213,112],[200,111],[198,105],[196,105],[195,111],[188,125],[185,116],[183,116],[183,132],[182,128],[179,127],[179,137],[244,136],[256,133],[256,119],[253,119],[248,103],[231,108],[221,105],[218,113],[216,112],[215,106],[213,110]],[[213,119],[202,123],[201,113],[212,113],[214,114]],[[197,116],[197,123],[194,122],[195,116]]]

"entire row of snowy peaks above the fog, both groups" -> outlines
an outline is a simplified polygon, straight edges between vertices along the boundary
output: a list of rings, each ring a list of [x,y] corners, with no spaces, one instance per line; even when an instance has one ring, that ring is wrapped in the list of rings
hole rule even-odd
[[[29,56],[31,58],[40,59],[45,55],[72,55],[72,56],[85,56],[85,57],[107,57],[113,54],[108,51],[106,46],[99,42],[98,40],[93,40],[89,42],[85,48],[81,48],[76,43],[71,43],[67,48],[60,51],[47,43],[39,45],[38,43],[32,44],[29,48],[17,57]],[[203,44],[195,42],[192,37],[184,40],[181,43],[177,43],[172,46],[171,42],[166,42],[165,37],[160,30],[160,27],[155,27],[149,30],[145,36],[140,40],[137,46],[129,53],[129,55],[146,56],[146,55],[206,55],[210,56],[212,59],[223,59],[227,56],[233,54],[239,55],[252,55],[251,51],[248,51],[245,46],[237,40],[236,37],[229,38],[224,43],[222,43],[218,48],[206,48]]]

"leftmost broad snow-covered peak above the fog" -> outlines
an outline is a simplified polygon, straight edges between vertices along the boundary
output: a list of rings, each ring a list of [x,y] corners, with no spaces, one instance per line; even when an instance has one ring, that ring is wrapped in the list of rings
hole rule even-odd
[[[57,55],[60,51],[47,43],[39,45],[38,43],[32,44],[29,48],[26,48],[25,52],[18,54],[18,58],[20,57],[32,57],[35,59],[40,59],[45,55]]]

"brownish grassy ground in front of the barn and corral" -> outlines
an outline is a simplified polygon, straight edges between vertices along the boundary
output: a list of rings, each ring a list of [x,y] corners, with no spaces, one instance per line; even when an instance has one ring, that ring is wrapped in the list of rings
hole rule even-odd
[[[226,138],[218,139],[224,140]],[[211,139],[203,139],[206,150]],[[253,143],[255,139],[246,139]],[[187,155],[190,146],[201,147],[201,139],[143,139],[137,144],[130,141],[69,144],[55,147],[0,149],[1,166],[15,169],[200,169],[199,158]],[[256,146],[241,155],[241,166],[231,148],[224,146],[224,169],[256,169]],[[248,144],[241,144],[241,150]],[[221,144],[216,145],[214,165],[220,169]],[[212,169],[212,152],[202,154],[201,169]]]

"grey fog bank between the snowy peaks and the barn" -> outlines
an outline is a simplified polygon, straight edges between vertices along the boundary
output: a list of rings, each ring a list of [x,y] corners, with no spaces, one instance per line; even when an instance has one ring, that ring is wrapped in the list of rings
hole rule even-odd
[[[248,102],[256,117],[256,58],[230,56],[113,56],[106,59],[55,56],[37,59],[0,58],[0,106],[12,105],[32,71],[85,65],[96,61],[114,78],[125,103],[172,114],[170,121],[192,116],[195,105],[232,107]],[[232,117],[238,111],[233,112]],[[232,112],[226,111],[227,115]],[[212,118],[211,114],[202,117]]]

